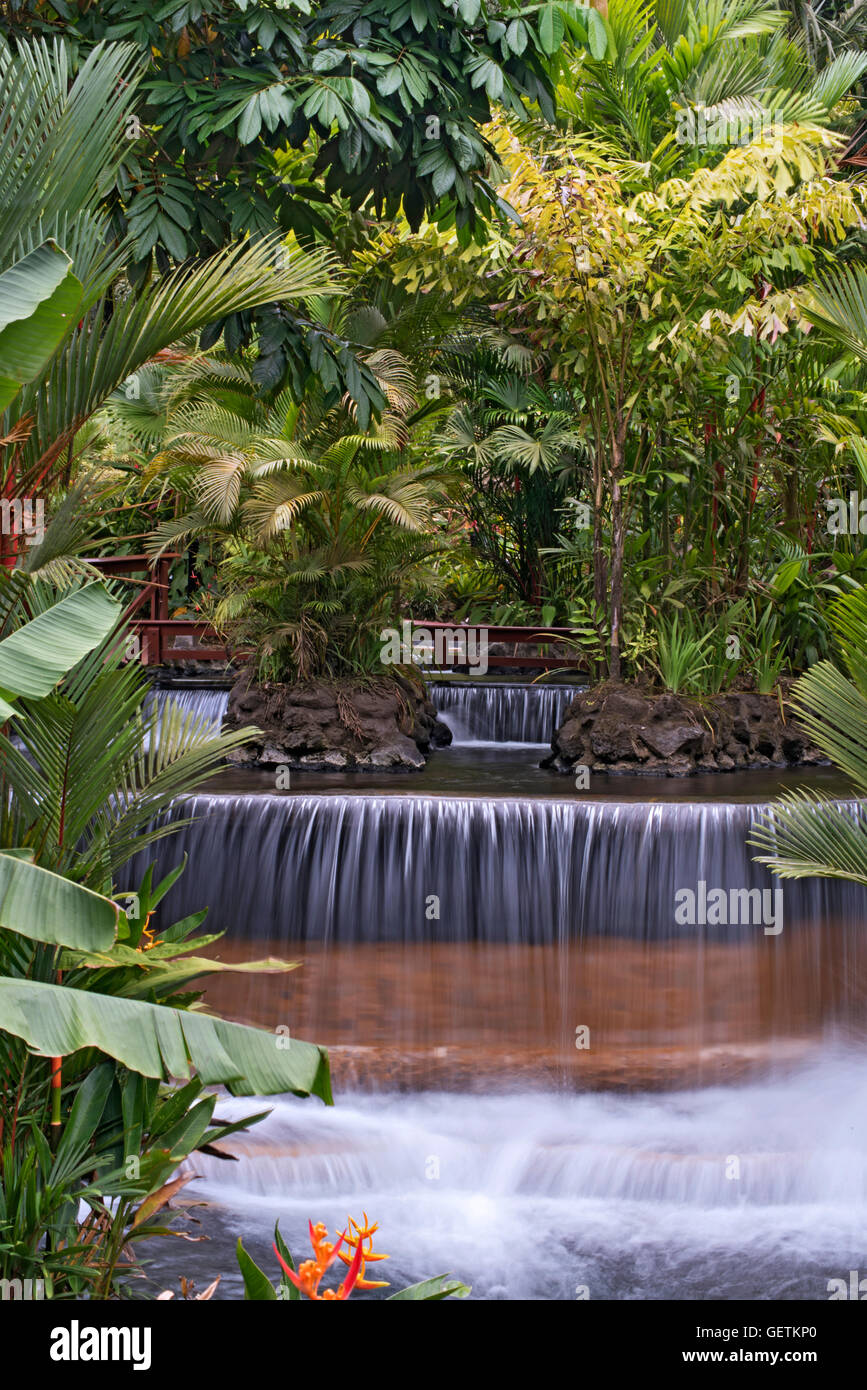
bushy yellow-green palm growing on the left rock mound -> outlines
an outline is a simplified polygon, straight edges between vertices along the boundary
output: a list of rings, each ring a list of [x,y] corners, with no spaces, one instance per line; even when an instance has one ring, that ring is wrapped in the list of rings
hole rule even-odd
[[[365,432],[349,400],[263,399],[243,360],[195,357],[167,379],[165,442],[144,475],[181,514],[150,549],[218,548],[210,616],[272,680],[375,666],[377,634],[407,594],[436,582],[434,531],[456,477],[408,448],[406,360],[377,349],[368,364],[388,406]],[[122,417],[124,402],[111,411]]]

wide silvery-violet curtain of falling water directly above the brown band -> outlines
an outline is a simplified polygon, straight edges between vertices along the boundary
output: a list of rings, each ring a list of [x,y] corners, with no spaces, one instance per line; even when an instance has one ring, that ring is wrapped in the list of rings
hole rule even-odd
[[[193,824],[161,847],[160,859],[167,865],[189,855],[168,899],[176,916],[210,903],[215,929],[285,942],[540,945],[596,934],[720,942],[774,934],[754,920],[678,923],[675,894],[697,894],[702,883],[707,894],[777,891],[784,927],[860,923],[867,890],[832,878],[782,883],[753,862],[746,840],[759,810],[743,803],[210,794],[178,808]]]

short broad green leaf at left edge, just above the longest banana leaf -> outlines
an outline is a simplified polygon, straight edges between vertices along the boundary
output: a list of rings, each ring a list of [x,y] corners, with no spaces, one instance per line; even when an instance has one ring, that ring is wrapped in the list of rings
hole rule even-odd
[[[108,898],[50,873],[19,855],[0,852],[0,927],[50,945],[107,951],[118,909]]]

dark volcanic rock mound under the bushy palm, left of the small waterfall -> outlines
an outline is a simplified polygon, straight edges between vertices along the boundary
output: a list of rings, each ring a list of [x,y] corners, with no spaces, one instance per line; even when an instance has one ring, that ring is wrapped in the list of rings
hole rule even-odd
[[[452,742],[421,682],[404,676],[257,685],[242,671],[229,694],[225,727],[256,726],[260,737],[229,758],[247,766],[306,770],[395,769],[425,764]]]

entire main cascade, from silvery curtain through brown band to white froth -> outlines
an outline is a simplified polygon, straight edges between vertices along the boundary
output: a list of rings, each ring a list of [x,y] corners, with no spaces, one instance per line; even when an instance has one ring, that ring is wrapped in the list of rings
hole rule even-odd
[[[197,1282],[238,1293],[242,1232],[271,1269],[275,1218],[303,1258],[308,1218],[364,1209],[393,1287],[450,1269],[482,1298],[827,1298],[867,1270],[867,891],[756,865],[749,777],[710,794],[742,802],[631,801],[553,790],[524,755],[515,795],[510,758],[436,753],[460,796],[425,770],[176,809],[195,819],[160,867],[189,867],[163,920],[210,903],[224,960],[302,966],[214,977],[208,1002],[325,1044],[338,1097],[268,1102],[236,1163],[197,1161],[220,1205]],[[717,924],[678,919],[681,891],[717,888]]]

